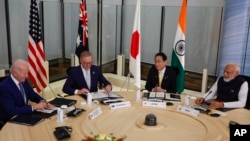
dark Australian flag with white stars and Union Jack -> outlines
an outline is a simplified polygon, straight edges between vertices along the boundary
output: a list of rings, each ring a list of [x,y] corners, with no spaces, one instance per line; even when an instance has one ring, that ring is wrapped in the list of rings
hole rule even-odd
[[[86,8],[86,0],[81,0],[75,53],[78,57],[80,57],[80,54],[83,51],[88,50],[88,13]]]

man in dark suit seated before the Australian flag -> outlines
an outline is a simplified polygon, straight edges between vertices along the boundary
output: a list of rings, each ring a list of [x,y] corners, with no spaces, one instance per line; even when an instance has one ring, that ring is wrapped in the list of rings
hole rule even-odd
[[[63,92],[69,95],[87,94],[98,91],[98,82],[104,90],[112,90],[111,83],[103,76],[99,67],[92,65],[93,56],[84,51],[80,55],[80,65],[69,70],[68,78],[63,86]]]

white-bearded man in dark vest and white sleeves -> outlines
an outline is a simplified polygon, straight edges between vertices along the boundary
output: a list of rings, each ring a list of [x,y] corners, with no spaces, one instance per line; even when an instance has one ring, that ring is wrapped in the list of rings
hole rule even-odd
[[[248,83],[240,75],[237,64],[227,64],[224,74],[196,104],[206,102],[211,109],[244,107],[247,99]]]

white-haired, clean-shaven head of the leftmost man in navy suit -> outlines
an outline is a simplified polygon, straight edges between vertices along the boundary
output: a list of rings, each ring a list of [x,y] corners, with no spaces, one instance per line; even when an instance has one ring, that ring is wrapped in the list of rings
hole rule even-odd
[[[24,82],[28,78],[29,65],[26,61],[18,59],[12,64],[10,72],[19,82]]]

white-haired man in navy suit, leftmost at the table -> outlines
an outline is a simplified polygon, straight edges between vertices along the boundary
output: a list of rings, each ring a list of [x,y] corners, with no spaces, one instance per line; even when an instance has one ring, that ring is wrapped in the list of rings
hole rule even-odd
[[[11,117],[32,113],[34,110],[54,108],[40,95],[34,92],[28,81],[28,63],[16,60],[10,68],[11,75],[0,83],[0,122],[2,126]],[[37,104],[28,105],[28,100]],[[1,126],[1,125],[0,125]]]

